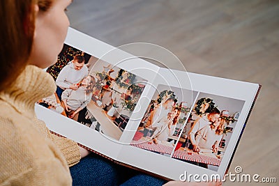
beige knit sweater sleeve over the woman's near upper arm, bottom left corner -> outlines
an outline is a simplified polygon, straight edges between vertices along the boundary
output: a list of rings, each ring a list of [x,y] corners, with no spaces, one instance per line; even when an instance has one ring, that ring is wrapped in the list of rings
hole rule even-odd
[[[0,185],[71,185],[60,151],[31,126],[0,116]]]

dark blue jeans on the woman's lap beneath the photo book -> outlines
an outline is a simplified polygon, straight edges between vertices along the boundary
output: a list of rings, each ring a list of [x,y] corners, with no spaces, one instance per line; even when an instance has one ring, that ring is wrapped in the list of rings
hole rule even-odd
[[[149,176],[91,153],[70,167],[73,185],[163,185],[165,180]]]

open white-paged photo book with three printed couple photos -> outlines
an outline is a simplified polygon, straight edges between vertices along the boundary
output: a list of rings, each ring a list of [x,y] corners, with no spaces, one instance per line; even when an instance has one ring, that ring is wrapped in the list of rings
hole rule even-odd
[[[261,87],[162,68],[72,28],[47,72],[58,88],[35,109],[52,132],[169,180],[223,178]]]

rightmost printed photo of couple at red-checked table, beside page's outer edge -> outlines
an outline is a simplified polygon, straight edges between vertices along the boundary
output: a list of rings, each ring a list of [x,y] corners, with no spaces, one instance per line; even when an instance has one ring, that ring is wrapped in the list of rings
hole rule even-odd
[[[243,104],[243,100],[199,93],[172,157],[217,171]]]

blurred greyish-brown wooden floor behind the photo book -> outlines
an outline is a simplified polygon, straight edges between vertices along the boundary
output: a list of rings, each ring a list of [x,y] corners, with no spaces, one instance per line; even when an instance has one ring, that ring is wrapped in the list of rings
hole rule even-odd
[[[262,84],[229,171],[279,179],[279,1],[82,0],[68,15],[111,45],[155,43],[189,72]]]

